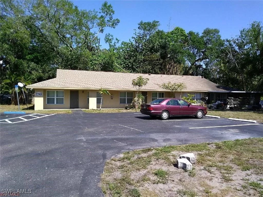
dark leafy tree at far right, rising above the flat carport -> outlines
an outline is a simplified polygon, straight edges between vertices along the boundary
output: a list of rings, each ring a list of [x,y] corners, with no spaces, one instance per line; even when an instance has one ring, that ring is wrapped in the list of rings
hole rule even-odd
[[[253,22],[236,38],[227,39],[218,79],[222,85],[245,91],[263,90],[263,26]]]

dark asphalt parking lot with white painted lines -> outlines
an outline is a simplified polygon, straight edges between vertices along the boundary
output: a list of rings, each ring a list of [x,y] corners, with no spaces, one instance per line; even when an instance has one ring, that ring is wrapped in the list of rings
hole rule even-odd
[[[31,189],[20,196],[103,196],[98,184],[105,161],[120,152],[263,137],[263,125],[257,123],[211,117],[161,121],[140,113],[79,110],[2,123],[18,117],[1,115],[0,192]]]

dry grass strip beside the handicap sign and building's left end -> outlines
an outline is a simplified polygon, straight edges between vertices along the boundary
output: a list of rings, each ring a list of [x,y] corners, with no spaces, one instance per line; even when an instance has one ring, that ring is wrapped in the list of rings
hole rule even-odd
[[[18,105],[0,105],[0,112],[4,111],[19,111]],[[71,110],[34,110],[34,105],[20,105],[20,111],[26,113],[44,113],[44,114],[53,114],[53,113],[72,113]]]

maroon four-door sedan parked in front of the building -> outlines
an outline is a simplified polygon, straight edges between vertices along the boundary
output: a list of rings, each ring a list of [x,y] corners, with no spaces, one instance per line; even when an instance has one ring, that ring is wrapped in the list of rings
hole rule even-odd
[[[149,104],[142,104],[140,112],[151,117],[160,116],[167,120],[170,116],[193,115],[196,118],[203,118],[207,114],[206,107],[191,105],[183,99],[158,98]]]

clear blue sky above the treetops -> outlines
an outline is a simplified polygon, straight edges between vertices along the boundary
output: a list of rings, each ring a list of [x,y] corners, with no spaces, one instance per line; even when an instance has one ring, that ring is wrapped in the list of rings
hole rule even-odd
[[[79,9],[97,10],[104,1],[73,1]],[[217,28],[223,39],[235,37],[253,21],[263,22],[263,1],[108,1],[120,23],[115,29],[107,28],[100,34],[101,45],[106,33],[122,41],[129,41],[138,23],[158,20],[164,31],[181,27],[186,32],[202,33],[207,27]]]

